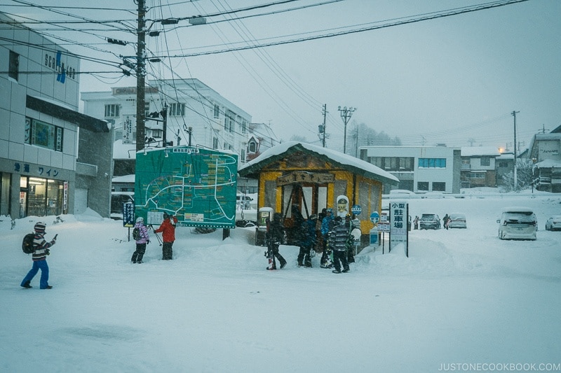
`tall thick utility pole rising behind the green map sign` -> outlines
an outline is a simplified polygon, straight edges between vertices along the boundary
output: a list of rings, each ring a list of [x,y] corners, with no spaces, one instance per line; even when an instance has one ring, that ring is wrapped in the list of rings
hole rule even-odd
[[[136,151],[144,149],[146,127],[144,126],[144,85],[146,84],[146,15],[144,0],[138,2],[138,29],[136,52]],[[165,136],[165,134],[164,134]]]

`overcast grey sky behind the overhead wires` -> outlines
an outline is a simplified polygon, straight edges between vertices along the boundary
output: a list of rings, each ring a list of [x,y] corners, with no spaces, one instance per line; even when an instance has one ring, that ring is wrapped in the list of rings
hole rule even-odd
[[[273,2],[276,1],[147,0],[147,18],[209,15]],[[136,22],[137,6],[132,0],[0,0],[0,10],[37,20],[76,20],[22,6],[27,3],[91,20],[126,20],[124,24],[129,27],[135,27]],[[323,5],[317,5],[320,3]],[[339,150],[343,147],[344,126],[337,106],[357,108],[349,125],[365,123],[377,132],[398,136],[403,145],[469,146],[471,141],[474,146],[511,149],[511,112],[519,111],[517,140],[524,148],[542,128],[561,125],[561,1],[529,0],[344,36],[193,56],[241,45],[416,20],[433,12],[447,13],[446,10],[480,3],[484,1],[299,0],[208,17],[205,25],[185,27],[188,22],[182,20],[178,25],[165,26],[166,32],[158,37],[147,37],[154,55],[176,56],[164,58],[163,64],[150,64],[148,78],[171,78],[165,66],[173,68],[175,78],[198,78],[250,113],[253,122],[271,123],[285,141],[293,134],[318,141],[322,106],[327,104],[327,145]],[[309,7],[279,12],[303,6]],[[217,22],[246,15],[259,16]],[[81,55],[119,62],[118,55],[135,54],[133,45],[111,45],[102,39],[135,42],[130,32],[84,34],[56,31],[44,24],[29,27],[64,36],[71,41],[65,48]],[[65,27],[82,29],[91,24]],[[155,23],[151,30],[163,30],[163,26]],[[72,41],[88,43],[102,51],[83,48]],[[177,57],[182,55],[188,57]],[[116,71],[85,60],[81,69]],[[81,76],[82,91],[135,84],[134,78],[117,74]]]

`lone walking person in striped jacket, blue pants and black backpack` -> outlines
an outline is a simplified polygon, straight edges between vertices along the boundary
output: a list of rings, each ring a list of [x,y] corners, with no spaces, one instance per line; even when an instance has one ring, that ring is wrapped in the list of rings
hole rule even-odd
[[[29,289],[33,287],[31,286],[31,281],[34,278],[34,276],[37,274],[37,272],[39,272],[39,269],[41,269],[41,279],[39,280],[39,288],[41,289],[53,288],[53,286],[50,286],[48,284],[47,255],[49,255],[50,246],[53,246],[57,241],[57,234],[55,234],[55,237],[53,237],[52,241],[47,242],[44,238],[46,234],[45,228],[46,228],[46,224],[41,222],[35,223],[35,226],[33,227],[35,231],[35,235],[33,238],[34,250],[32,254],[33,267],[29,269],[29,272],[27,272],[27,275],[25,276],[22,283],[20,284],[22,288]]]

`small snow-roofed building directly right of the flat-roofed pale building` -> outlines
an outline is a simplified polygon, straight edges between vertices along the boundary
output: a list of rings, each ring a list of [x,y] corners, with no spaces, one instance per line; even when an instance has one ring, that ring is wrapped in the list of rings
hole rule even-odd
[[[499,155],[499,148],[493,146],[462,147],[461,188],[496,187],[496,157]]]

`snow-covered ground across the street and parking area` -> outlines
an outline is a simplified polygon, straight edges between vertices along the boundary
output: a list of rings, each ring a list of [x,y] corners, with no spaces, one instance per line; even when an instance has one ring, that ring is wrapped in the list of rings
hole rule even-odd
[[[255,228],[224,241],[181,228],[175,260],[160,260],[153,237],[133,265],[121,221],[24,218],[11,230],[0,217],[0,371],[561,370],[561,232],[543,229],[561,196],[408,202],[412,216],[466,213],[468,228],[413,230],[409,258],[367,248],[348,274],[321,269],[319,255],[298,268],[295,246],[280,247],[285,269],[266,271]],[[496,237],[512,205],[535,209],[536,241]],[[20,243],[37,220],[58,234],[52,290],[39,290],[39,274],[20,288],[32,265]]]

